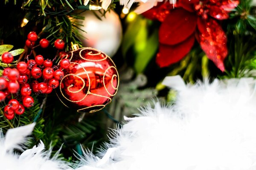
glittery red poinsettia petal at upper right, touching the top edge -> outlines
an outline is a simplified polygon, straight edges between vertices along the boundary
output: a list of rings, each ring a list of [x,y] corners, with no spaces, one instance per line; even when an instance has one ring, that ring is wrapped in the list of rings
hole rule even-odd
[[[217,4],[209,6],[209,15],[218,20],[225,20],[228,19],[230,11],[238,6],[239,0],[222,0]]]

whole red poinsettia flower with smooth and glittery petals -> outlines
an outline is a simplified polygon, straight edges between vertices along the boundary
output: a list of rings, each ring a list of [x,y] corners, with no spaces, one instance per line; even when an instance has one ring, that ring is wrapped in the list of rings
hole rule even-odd
[[[215,65],[224,71],[227,37],[216,20],[225,20],[239,0],[178,0],[146,11],[145,17],[162,22],[159,30],[157,64],[169,66],[180,61],[192,48],[195,38]]]

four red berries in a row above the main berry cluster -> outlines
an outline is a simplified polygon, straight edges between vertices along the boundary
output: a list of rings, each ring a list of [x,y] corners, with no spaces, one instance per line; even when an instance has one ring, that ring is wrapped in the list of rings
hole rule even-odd
[[[38,35],[34,32],[34,31],[31,31],[29,32],[28,34],[28,37],[27,37],[27,40],[26,40],[26,46],[29,47],[29,48],[32,48],[35,46],[35,42],[38,40]],[[47,48],[48,45],[49,45],[49,41],[45,38],[41,39],[40,42],[39,42],[39,45],[42,47],[42,48]],[[57,39],[55,40],[54,42],[54,46],[55,48],[57,48],[58,50],[63,50],[64,49],[64,46],[65,46],[65,43],[63,40],[61,39]]]

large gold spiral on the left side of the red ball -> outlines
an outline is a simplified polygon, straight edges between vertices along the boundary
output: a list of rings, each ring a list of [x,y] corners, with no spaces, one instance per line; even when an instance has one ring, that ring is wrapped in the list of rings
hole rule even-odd
[[[80,65],[80,64],[77,63],[77,62],[70,62],[70,64],[71,64],[71,63],[75,63],[75,64],[77,64],[77,65]],[[81,66],[81,65],[80,65],[80,66]],[[63,94],[63,92],[62,92],[62,90],[61,90],[61,83],[62,83],[62,81],[64,80],[64,78],[67,77],[67,76],[75,76],[75,77],[78,77],[78,78],[81,79],[82,82],[83,82],[83,86],[82,86],[78,91],[70,91],[70,88],[73,87],[73,85],[70,85],[70,86],[67,87],[67,90],[68,90],[70,93],[78,93],[79,91],[83,90],[83,88],[84,88],[84,86],[85,86],[84,79],[82,79],[81,77],[77,76],[76,74],[67,74],[67,75],[65,75],[65,76],[61,79],[61,82],[60,82],[60,86],[59,86],[59,87],[60,87],[61,94],[62,94],[62,96],[63,96],[65,99],[67,99],[67,100],[70,101],[70,102],[81,102],[82,100],[85,99],[85,97],[86,97],[88,94],[90,94],[90,77],[89,77],[87,71],[85,70],[85,68],[83,68],[82,66],[81,66],[81,68],[82,68],[82,69],[84,70],[84,72],[87,74],[88,81],[89,81],[88,90],[87,90],[85,96],[84,96],[82,99],[80,99],[80,100],[78,100],[78,101],[73,101],[73,100],[68,99],[68,98]]]

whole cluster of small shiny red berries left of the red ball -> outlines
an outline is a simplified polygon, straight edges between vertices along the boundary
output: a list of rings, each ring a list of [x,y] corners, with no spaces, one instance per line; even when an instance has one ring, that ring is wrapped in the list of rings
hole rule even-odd
[[[32,48],[38,39],[35,32],[28,34],[26,45]],[[40,46],[47,48],[49,41],[40,40]],[[56,40],[55,48],[63,49],[64,41]],[[61,58],[65,53],[62,52]],[[2,55],[2,62],[9,64],[13,62],[13,55],[5,52]],[[59,86],[59,81],[64,77],[62,69],[70,66],[68,59],[61,59],[60,65],[54,66],[50,59],[44,59],[42,55],[37,55],[35,59],[29,59],[27,62],[19,62],[16,68],[5,68],[3,75],[0,77],[0,102],[9,100],[4,107],[4,115],[7,119],[13,119],[15,114],[21,115],[25,108],[30,108],[34,104],[31,96],[35,94],[49,94],[52,89]],[[11,95],[14,94],[14,95]],[[11,99],[15,97],[15,99]],[[19,102],[20,101],[20,102]]]

